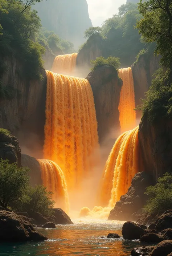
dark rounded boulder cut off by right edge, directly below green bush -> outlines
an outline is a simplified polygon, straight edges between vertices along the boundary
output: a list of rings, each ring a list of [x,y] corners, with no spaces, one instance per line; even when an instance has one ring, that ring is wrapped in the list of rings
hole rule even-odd
[[[162,214],[157,220],[155,228],[159,232],[167,228],[172,228],[172,212]]]

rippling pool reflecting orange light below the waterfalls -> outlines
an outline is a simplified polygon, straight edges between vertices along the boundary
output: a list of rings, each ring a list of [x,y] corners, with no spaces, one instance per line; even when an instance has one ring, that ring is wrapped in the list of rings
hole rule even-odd
[[[108,233],[121,236],[122,222],[74,221],[74,225],[57,225],[56,229],[39,229],[49,240],[39,243],[1,244],[1,256],[129,256],[139,241],[107,239]],[[101,238],[105,236],[105,238]]]

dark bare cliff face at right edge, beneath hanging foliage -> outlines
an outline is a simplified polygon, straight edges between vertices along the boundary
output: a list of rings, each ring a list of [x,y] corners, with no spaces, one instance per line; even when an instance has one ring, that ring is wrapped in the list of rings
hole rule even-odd
[[[160,119],[152,124],[144,115],[139,125],[145,171],[156,181],[165,172],[172,172],[172,121]]]

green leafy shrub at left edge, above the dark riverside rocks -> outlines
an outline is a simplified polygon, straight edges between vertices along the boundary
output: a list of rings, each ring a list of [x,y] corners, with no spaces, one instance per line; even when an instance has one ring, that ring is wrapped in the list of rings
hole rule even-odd
[[[29,183],[28,168],[19,168],[17,163],[0,159],[0,205],[7,208],[10,203],[28,202],[25,188]]]

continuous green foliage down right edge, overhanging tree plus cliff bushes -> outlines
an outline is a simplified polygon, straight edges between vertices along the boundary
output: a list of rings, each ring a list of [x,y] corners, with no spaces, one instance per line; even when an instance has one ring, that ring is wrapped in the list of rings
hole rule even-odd
[[[156,42],[155,54],[162,56],[162,69],[157,70],[147,99],[140,107],[150,122],[156,122],[159,118],[172,117],[172,2],[140,0],[139,11],[143,15],[137,23],[139,33],[144,41]]]

